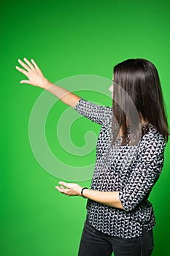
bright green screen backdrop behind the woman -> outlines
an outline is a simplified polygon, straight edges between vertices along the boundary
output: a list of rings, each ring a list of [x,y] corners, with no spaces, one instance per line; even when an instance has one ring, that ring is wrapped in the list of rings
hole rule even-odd
[[[86,200],[59,193],[54,187],[60,178],[47,173],[31,151],[28,121],[43,90],[19,83],[26,77],[15,69],[18,59],[33,58],[53,83],[85,74],[112,80],[118,62],[148,59],[158,69],[169,113],[169,13],[165,0],[1,3],[1,255],[77,255],[86,214]],[[76,94],[91,101],[97,97],[89,91]],[[105,97],[100,102],[112,106]],[[67,106],[58,104],[62,113]],[[54,106],[46,128],[53,153],[75,166],[93,163],[95,150],[83,159],[57,150],[57,120]],[[98,135],[100,126],[82,117],[73,128],[72,140],[83,146],[85,132]],[[170,253],[169,153],[168,143],[163,173],[150,195],[157,222],[154,256]],[[90,180],[79,184],[89,187]]]

